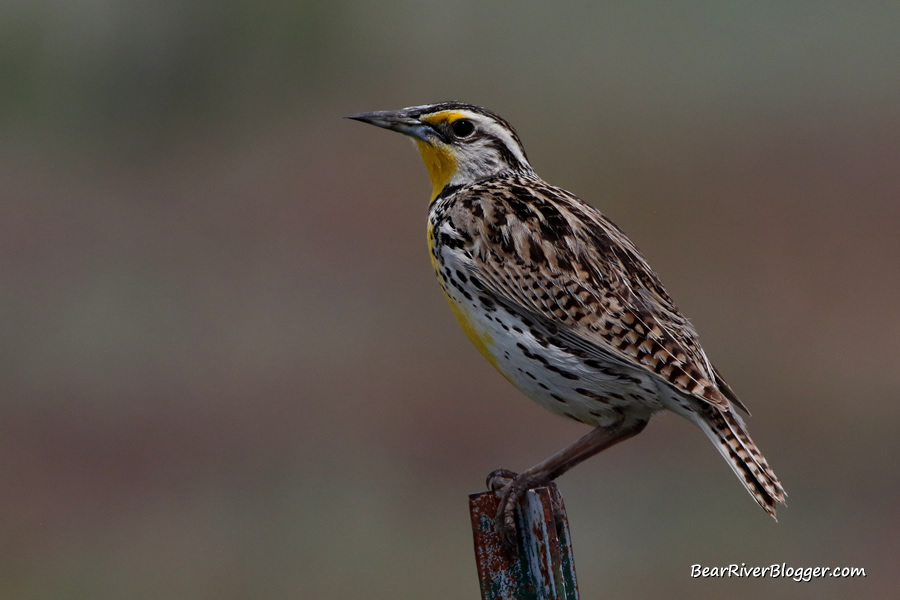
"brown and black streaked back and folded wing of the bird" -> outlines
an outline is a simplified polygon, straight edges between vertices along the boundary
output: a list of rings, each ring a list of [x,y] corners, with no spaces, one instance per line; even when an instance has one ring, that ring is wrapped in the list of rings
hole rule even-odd
[[[576,196],[538,178],[488,180],[459,192],[448,217],[471,236],[473,275],[503,304],[597,359],[646,369],[723,410],[737,400],[714,383],[696,332],[634,244]]]

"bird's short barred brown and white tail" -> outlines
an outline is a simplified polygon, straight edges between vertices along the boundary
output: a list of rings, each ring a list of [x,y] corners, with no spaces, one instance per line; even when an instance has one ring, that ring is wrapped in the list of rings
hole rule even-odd
[[[734,411],[722,411],[709,404],[698,408],[697,424],[728,461],[750,495],[775,518],[775,508],[784,503],[787,494],[762,452],[750,439],[743,420]]]

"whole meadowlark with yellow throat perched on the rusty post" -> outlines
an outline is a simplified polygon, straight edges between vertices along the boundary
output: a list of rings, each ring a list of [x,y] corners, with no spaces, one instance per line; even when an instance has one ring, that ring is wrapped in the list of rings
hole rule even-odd
[[[431,263],[475,347],[538,404],[594,427],[520,474],[488,476],[508,538],[525,490],[636,435],[663,409],[698,425],[775,516],[784,489],[693,326],[621,229],[535,174],[509,123],[461,102],[349,118],[418,146],[433,186]]]

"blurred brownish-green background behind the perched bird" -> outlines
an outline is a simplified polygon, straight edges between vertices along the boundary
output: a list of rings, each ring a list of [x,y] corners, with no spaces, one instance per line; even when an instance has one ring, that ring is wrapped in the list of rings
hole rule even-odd
[[[661,415],[560,480],[584,598],[900,588],[900,5],[6,0],[0,597],[477,598],[467,494],[586,431],[470,347],[458,99],[644,251],[790,494]],[[865,579],[690,578],[693,564]]]

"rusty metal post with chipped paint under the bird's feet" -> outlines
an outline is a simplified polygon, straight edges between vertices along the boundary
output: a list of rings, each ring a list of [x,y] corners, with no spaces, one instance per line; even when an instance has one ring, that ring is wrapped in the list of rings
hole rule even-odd
[[[469,496],[482,600],[578,600],[569,522],[556,484],[525,493],[516,511],[515,556],[500,539],[497,504],[494,492]]]

